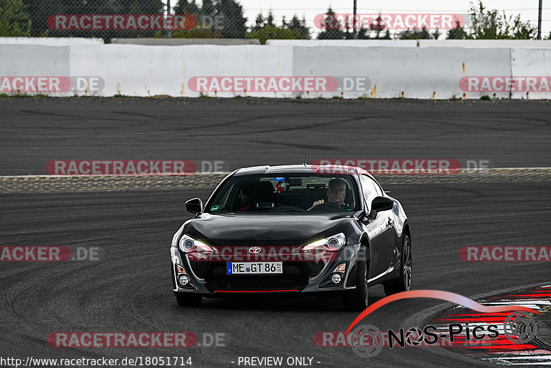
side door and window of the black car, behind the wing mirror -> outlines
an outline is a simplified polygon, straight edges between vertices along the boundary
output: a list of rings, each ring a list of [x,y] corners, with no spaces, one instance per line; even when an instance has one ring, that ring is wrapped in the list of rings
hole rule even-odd
[[[362,192],[366,202],[367,213],[371,211],[371,201],[377,196],[382,196],[383,192],[377,183],[367,175],[360,175]],[[368,222],[363,222],[362,226],[366,230],[371,240],[371,260],[369,263],[370,280],[375,280],[391,266],[392,256],[395,247],[395,236],[393,234],[393,214],[392,210],[380,211],[374,219],[369,218]]]

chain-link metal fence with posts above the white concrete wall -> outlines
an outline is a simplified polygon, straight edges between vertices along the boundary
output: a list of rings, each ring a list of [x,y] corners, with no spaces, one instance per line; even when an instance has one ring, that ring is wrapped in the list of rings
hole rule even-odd
[[[250,38],[261,43],[548,39],[551,8],[542,5],[542,0],[0,0],[0,37]]]

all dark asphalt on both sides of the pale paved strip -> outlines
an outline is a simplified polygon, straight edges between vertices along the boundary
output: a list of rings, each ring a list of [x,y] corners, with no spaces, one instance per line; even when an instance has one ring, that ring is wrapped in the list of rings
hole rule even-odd
[[[288,163],[296,155],[302,160],[302,145],[333,157],[357,157],[377,147],[381,158],[461,154],[468,159],[493,158],[497,166],[506,167],[548,166],[551,156],[546,117],[550,108],[544,103],[8,100],[0,102],[4,175],[43,174],[50,158],[90,155],[198,160],[222,156],[231,162],[229,168]],[[291,116],[299,112],[302,116]],[[282,114],[290,116],[282,125],[270,121]],[[386,118],[358,118],[366,115]],[[342,123],[342,135],[334,130],[338,119],[350,119]],[[186,126],[195,127],[193,133]],[[283,129],[293,126],[302,129],[292,134]],[[354,148],[341,148],[336,138]],[[210,148],[216,152],[205,152]],[[474,296],[549,283],[549,263],[465,263],[458,251],[466,245],[549,245],[550,182],[385,185],[384,176],[380,180],[410,218],[415,289]],[[318,347],[316,332],[344,331],[357,316],[342,311],[338,298],[208,299],[202,307],[179,307],[169,279],[171,236],[189,218],[183,201],[206,198],[210,191],[0,194],[1,245],[103,249],[98,261],[0,263],[1,356],[178,355],[191,356],[192,367],[237,367],[231,361],[239,356],[309,356],[320,362],[314,367],[485,365],[434,347],[384,348],[373,358],[360,358],[349,347]],[[382,287],[370,289],[370,303],[383,297]],[[382,330],[397,329],[413,314],[439,303],[401,300],[364,322]],[[226,346],[177,352],[60,349],[46,341],[55,331],[189,331],[199,337],[218,332],[225,334]]]

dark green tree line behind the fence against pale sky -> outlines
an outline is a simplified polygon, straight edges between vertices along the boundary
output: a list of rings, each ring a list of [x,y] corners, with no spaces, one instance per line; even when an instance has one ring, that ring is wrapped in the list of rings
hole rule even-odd
[[[426,28],[391,33],[381,17],[357,30],[353,25],[333,23],[335,27],[315,34],[306,19],[296,14],[275,21],[273,13],[260,12],[251,26],[237,0],[178,0],[174,14],[189,14],[196,19],[189,29],[174,30],[171,37],[267,39],[439,39],[441,31]],[[165,14],[160,0],[0,0],[0,37],[167,37],[161,30],[56,30],[48,27],[52,14]],[[333,16],[331,8],[326,16]],[[535,39],[537,28],[520,15],[488,10],[481,0],[469,10],[470,28],[457,26],[446,32],[446,39]],[[333,19],[333,18],[331,18]],[[547,39],[551,38],[551,33]]]

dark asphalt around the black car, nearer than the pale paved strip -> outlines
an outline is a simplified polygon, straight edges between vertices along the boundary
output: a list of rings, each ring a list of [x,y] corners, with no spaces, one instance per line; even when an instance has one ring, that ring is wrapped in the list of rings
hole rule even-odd
[[[472,296],[548,283],[548,263],[464,263],[465,245],[548,245],[551,183],[387,185],[411,219],[413,285]],[[25,358],[174,356],[174,349],[61,349],[54,331],[224,333],[226,347],[178,349],[194,367],[237,367],[239,356],[313,356],[315,367],[453,366],[472,362],[439,348],[386,349],[360,358],[347,347],[318,347],[318,331],[344,331],[357,316],[340,299],[207,299],[179,307],[171,294],[169,246],[189,216],[183,200],[209,190],[2,194],[2,245],[101,247],[98,261],[3,262],[0,350]],[[371,303],[384,297],[370,289]],[[391,303],[365,323],[398,329],[412,314],[441,303]],[[415,326],[411,326],[415,327]],[[481,364],[481,362],[475,362]]]

